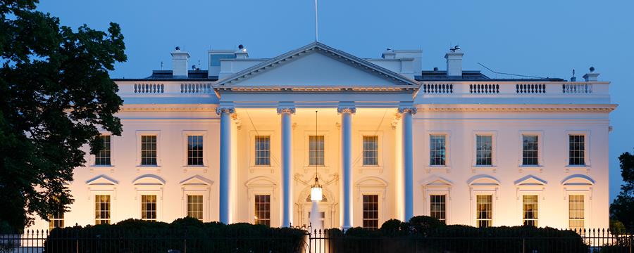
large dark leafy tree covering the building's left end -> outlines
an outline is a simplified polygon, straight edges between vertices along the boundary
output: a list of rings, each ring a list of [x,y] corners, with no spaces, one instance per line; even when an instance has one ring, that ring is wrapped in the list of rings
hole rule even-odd
[[[66,210],[82,145],[96,153],[99,129],[122,129],[108,76],[127,58],[119,25],[73,31],[38,2],[0,0],[0,223],[18,231]]]

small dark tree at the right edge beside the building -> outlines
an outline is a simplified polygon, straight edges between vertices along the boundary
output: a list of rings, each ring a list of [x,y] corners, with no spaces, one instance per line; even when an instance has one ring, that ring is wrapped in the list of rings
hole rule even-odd
[[[621,193],[610,205],[610,218],[621,221],[628,231],[634,231],[634,155],[623,153],[619,162],[623,185]]]

